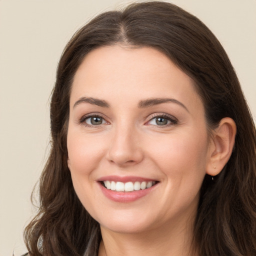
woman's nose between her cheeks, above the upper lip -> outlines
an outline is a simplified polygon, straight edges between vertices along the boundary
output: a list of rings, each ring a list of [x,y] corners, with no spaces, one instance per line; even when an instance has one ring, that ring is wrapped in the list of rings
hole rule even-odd
[[[143,158],[140,142],[135,129],[116,127],[107,152],[108,160],[119,166],[139,163]]]

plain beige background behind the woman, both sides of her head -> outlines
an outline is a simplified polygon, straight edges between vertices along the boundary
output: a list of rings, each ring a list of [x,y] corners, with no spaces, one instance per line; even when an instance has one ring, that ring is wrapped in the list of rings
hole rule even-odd
[[[47,156],[49,95],[61,51],[79,26],[125,0],[0,0],[0,256],[34,212]],[[256,116],[256,0],[172,0],[219,38]]]

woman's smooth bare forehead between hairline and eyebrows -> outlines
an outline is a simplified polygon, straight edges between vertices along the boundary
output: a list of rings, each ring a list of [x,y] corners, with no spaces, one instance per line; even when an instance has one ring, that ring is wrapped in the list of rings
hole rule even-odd
[[[199,99],[193,80],[162,52],[122,45],[100,47],[84,57],[73,79],[70,103],[81,96],[110,101],[121,97],[123,104],[166,96],[188,104]]]

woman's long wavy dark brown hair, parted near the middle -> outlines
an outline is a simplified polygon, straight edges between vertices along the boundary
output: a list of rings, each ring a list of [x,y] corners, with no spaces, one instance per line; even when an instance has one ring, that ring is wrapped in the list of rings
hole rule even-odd
[[[201,256],[256,255],[256,134],[237,76],[219,41],[198,18],[160,1],[102,13],[66,45],[50,104],[51,151],[40,178],[39,211],[24,232],[30,255],[97,255],[99,224],[77,198],[67,168],[69,94],[84,56],[116,43],[154,47],[192,77],[209,128],[223,117],[235,121],[229,161],[213,181],[208,175],[203,180],[194,241]]]

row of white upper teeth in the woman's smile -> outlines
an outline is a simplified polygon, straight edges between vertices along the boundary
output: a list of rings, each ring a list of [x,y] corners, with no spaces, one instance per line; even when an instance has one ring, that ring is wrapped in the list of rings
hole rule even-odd
[[[105,187],[107,189],[115,190],[115,191],[125,191],[125,192],[130,192],[133,190],[140,190],[140,189],[145,189],[149,188],[152,185],[154,185],[156,182],[155,181],[135,181],[132,183],[131,181],[129,182],[120,182],[120,181],[109,181],[109,180],[104,180],[103,181]]]

